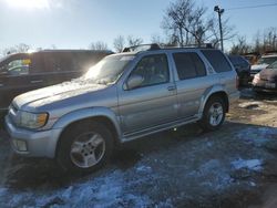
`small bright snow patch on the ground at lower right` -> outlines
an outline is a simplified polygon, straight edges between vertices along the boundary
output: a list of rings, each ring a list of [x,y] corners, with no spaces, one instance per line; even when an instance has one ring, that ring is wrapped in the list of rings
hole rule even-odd
[[[239,158],[237,160],[232,162],[230,164],[235,169],[247,168],[249,170],[255,170],[255,171],[259,171],[263,169],[261,167],[263,162],[260,159],[245,160],[245,159]]]

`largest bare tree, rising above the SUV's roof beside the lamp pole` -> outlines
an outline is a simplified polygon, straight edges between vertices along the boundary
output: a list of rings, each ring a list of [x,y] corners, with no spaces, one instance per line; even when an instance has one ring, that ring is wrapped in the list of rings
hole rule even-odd
[[[181,46],[187,44],[201,45],[204,42],[216,44],[218,38],[218,21],[207,15],[207,8],[196,7],[192,0],[176,0],[167,8],[162,21],[162,28],[171,39],[176,40]],[[223,22],[224,40],[233,38],[232,28]]]

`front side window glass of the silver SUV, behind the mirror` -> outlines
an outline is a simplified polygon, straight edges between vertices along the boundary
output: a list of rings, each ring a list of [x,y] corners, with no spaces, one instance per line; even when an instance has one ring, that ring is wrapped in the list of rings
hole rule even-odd
[[[166,55],[144,56],[132,72],[132,75],[142,76],[141,87],[167,83],[170,81],[170,72]]]

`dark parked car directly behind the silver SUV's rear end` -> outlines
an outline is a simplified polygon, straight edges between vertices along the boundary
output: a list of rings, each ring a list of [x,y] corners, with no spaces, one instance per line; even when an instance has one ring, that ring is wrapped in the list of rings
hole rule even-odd
[[[250,63],[242,55],[229,55],[229,60],[236,69],[239,86],[248,85],[250,77]]]

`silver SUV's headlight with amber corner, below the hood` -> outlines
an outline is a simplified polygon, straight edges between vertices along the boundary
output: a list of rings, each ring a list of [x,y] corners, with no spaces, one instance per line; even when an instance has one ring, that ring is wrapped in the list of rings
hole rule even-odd
[[[40,128],[48,122],[48,113],[20,112],[19,125],[27,128]]]

